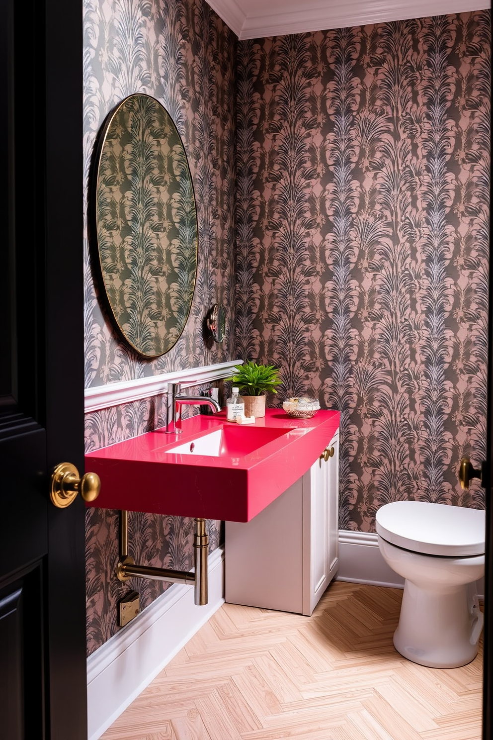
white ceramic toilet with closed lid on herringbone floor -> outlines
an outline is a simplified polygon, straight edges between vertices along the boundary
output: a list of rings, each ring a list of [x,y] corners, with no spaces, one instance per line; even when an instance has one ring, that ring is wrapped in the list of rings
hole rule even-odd
[[[485,528],[485,512],[478,509],[424,501],[378,509],[378,547],[405,579],[394,633],[405,658],[455,668],[477,655],[483,614],[476,581],[484,575]]]

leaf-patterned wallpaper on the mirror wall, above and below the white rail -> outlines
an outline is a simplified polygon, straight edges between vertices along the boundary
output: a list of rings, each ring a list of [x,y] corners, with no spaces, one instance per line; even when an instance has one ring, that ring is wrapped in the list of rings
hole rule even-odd
[[[234,332],[211,346],[202,334],[213,303],[234,326],[234,58],[237,40],[203,0],[84,0],[84,152],[86,186],[95,138],[106,114],[126,95],[146,92],[170,113],[183,140],[194,182],[199,263],[191,314],[171,351],[142,360],[120,343],[101,309],[86,240],[86,387],[102,386],[234,357]],[[86,211],[86,208],[84,209]],[[163,424],[162,399],[86,414],[86,449],[134,437]],[[136,562],[189,570],[193,519],[129,514]],[[210,550],[220,522],[208,522]],[[117,603],[140,593],[141,608],[170,584],[115,576],[118,512],[86,514],[87,650],[117,630]]]

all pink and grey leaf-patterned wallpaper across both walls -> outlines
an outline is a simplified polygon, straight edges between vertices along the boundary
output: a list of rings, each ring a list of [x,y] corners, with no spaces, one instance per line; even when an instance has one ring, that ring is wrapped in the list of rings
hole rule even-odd
[[[372,531],[392,499],[483,507],[455,468],[485,454],[489,11],[238,42],[203,0],[84,0],[84,33],[86,182],[106,113],[153,95],[183,138],[200,241],[186,329],[152,361],[112,332],[86,243],[86,386],[268,360],[277,403],[341,410],[341,528]],[[217,301],[235,332],[211,347]],[[87,414],[86,448],[162,418],[159,397]],[[130,530],[140,562],[191,566],[189,519],[132,514]],[[146,606],[166,585],[118,582],[116,512],[88,510],[86,541],[92,653],[124,593]]]

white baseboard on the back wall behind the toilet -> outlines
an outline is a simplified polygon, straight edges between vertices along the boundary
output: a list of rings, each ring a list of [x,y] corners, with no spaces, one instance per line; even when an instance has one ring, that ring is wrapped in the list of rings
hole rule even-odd
[[[339,530],[337,578],[350,583],[404,588],[404,578],[392,571],[381,556],[375,532]],[[477,593],[483,599],[484,578],[477,582]]]

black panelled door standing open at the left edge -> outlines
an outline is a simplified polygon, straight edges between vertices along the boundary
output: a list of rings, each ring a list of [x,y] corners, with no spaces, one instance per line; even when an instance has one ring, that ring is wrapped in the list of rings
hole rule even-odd
[[[82,7],[0,0],[0,738],[86,740]],[[7,190],[7,195],[5,192]]]

